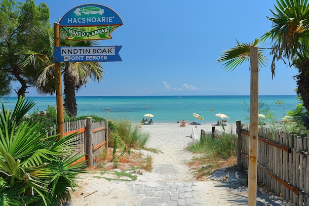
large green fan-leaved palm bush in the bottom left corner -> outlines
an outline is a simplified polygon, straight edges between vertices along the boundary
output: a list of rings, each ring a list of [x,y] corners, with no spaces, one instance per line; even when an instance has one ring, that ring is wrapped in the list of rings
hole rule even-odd
[[[23,117],[35,105],[19,98],[14,111],[0,113],[0,205],[60,206],[77,187],[84,162],[75,154],[76,134],[47,136],[46,129]]]

